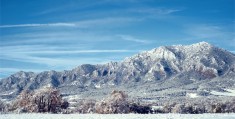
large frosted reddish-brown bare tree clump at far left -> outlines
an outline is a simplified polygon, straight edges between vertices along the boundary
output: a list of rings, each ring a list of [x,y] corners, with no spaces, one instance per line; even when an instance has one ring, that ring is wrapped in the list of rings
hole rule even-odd
[[[23,91],[10,107],[10,111],[58,113],[68,107],[57,89],[45,88],[37,92]]]

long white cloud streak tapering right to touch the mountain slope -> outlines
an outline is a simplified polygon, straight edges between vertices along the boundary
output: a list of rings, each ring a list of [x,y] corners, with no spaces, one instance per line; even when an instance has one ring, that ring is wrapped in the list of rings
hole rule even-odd
[[[53,46],[47,47],[46,45],[16,45],[16,46],[2,46],[0,57],[8,57],[11,55],[37,55],[37,54],[53,54],[53,55],[64,55],[64,54],[82,54],[82,53],[127,53],[127,52],[138,52],[138,50],[128,49],[80,49],[78,47],[67,47],[67,46]]]

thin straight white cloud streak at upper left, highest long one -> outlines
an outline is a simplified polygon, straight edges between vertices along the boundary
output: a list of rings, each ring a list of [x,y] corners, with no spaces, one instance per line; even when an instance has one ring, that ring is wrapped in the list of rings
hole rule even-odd
[[[48,24],[16,24],[1,25],[0,28],[17,28],[17,27],[74,27],[74,23],[48,23]]]

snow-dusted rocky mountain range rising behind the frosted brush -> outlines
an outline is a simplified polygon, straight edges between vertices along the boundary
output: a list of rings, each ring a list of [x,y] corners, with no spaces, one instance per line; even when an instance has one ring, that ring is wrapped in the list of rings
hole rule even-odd
[[[162,46],[121,62],[90,65],[72,70],[18,72],[0,81],[0,97],[13,99],[22,90],[58,87],[63,94],[101,96],[113,88],[134,96],[188,94],[235,88],[235,55],[206,42]],[[224,90],[223,90],[224,91]]]

